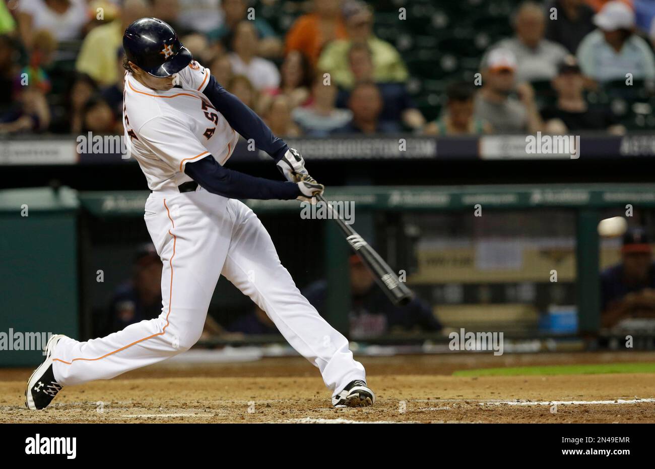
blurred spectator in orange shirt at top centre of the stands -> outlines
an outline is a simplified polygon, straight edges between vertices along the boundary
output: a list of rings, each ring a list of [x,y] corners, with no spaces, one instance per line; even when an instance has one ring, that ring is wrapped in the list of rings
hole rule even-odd
[[[301,51],[316,66],[323,47],[346,39],[348,30],[341,14],[342,0],[312,0],[312,12],[293,22],[285,39],[285,51]]]

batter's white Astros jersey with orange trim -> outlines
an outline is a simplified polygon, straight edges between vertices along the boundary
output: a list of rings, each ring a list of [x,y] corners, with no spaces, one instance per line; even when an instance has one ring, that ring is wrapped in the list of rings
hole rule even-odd
[[[155,91],[125,73],[123,127],[126,146],[141,166],[148,187],[172,189],[191,178],[189,161],[214,155],[227,161],[239,134],[202,93],[210,70],[193,60],[176,74],[175,85]]]

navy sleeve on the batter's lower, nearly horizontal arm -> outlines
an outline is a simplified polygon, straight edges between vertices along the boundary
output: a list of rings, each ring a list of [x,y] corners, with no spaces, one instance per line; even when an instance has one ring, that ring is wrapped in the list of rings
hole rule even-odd
[[[231,199],[295,199],[300,189],[295,182],[274,181],[239,173],[218,164],[212,155],[187,163],[184,172],[212,194]]]

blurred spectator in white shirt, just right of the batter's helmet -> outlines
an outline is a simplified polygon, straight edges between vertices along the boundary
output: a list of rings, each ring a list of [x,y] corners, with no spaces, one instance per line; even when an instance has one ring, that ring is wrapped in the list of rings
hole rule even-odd
[[[259,38],[252,22],[244,20],[234,27],[232,50],[229,57],[235,75],[245,75],[259,91],[280,85],[280,72],[275,64],[257,56]]]

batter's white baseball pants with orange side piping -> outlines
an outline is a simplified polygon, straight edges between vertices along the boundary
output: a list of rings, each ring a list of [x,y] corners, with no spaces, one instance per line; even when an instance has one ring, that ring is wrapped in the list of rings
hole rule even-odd
[[[188,350],[200,338],[221,274],[318,367],[333,395],[350,381],[365,379],[346,338],[301,295],[246,205],[202,188],[154,192],[144,218],[163,262],[162,313],[88,342],[62,338],[52,355],[54,377],[62,386],[113,378]]]

